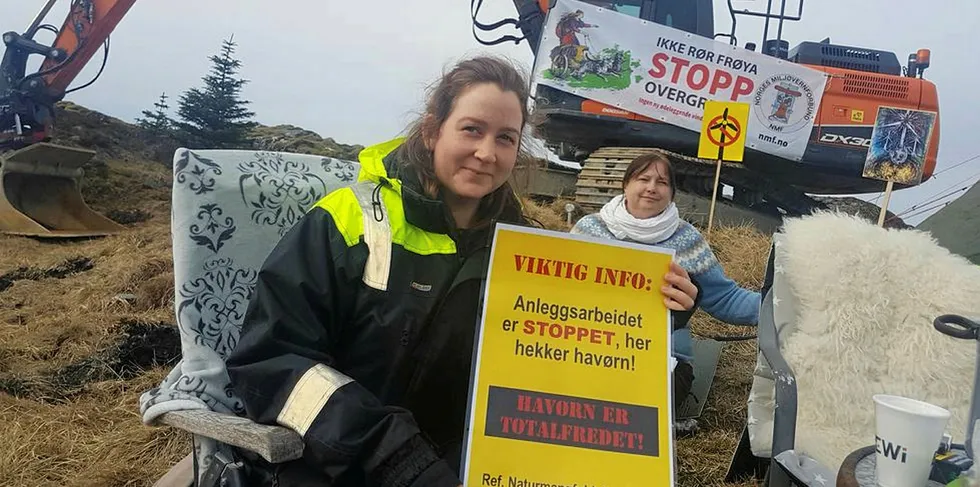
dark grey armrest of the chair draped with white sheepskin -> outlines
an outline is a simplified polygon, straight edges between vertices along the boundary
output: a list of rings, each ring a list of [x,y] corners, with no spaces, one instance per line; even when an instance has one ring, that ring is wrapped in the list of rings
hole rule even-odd
[[[769,364],[776,383],[776,408],[773,412],[772,457],[792,450],[796,438],[796,376],[779,351],[779,336],[773,318],[773,290],[762,299],[759,313],[759,350]]]

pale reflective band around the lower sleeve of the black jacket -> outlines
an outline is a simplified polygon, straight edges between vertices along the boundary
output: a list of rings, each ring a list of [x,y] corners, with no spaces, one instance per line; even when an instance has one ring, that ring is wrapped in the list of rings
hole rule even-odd
[[[326,365],[316,364],[310,367],[293,386],[276,421],[300,436],[306,436],[306,431],[310,429],[323,406],[326,406],[330,396],[352,381],[350,377]]]

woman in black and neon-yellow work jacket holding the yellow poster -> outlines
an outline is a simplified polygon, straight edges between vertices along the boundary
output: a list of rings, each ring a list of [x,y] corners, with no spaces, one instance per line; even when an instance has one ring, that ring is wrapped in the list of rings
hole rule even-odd
[[[227,369],[248,416],[306,449],[282,465],[239,452],[256,484],[460,485],[493,228],[529,223],[508,183],[527,99],[508,63],[461,62],[268,256]],[[677,266],[663,292],[676,311],[697,296]]]

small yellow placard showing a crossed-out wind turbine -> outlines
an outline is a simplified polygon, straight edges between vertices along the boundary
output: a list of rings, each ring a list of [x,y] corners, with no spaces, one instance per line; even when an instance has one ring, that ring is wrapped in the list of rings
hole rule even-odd
[[[709,100],[704,104],[698,157],[741,162],[745,154],[745,132],[749,104]]]

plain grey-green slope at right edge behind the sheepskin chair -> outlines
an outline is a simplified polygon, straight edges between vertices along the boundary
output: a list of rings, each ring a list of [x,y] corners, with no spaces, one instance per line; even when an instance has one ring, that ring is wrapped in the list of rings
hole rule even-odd
[[[980,183],[916,225],[950,252],[980,265]]]

